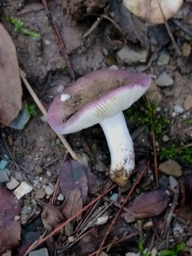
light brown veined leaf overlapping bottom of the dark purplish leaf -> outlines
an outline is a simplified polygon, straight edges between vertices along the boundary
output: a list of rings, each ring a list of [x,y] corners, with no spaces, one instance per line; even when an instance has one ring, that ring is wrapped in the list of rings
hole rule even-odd
[[[67,220],[79,212],[83,208],[83,201],[80,189],[70,190],[65,198],[61,212]],[[76,219],[81,220],[82,215],[79,214]]]

